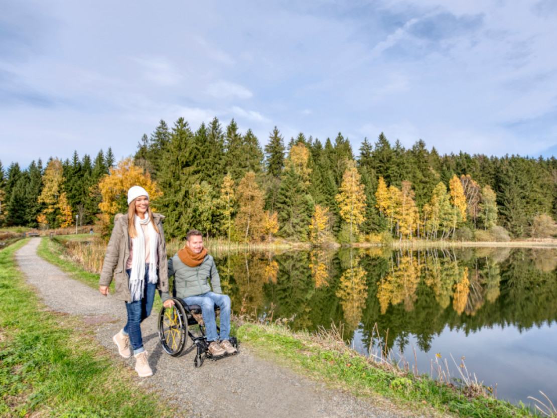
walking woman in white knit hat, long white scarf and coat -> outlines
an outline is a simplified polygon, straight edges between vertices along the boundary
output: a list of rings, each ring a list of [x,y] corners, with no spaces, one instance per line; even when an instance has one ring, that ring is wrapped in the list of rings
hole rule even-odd
[[[131,356],[131,344],[135,371],[140,377],[153,375],[143,348],[140,324],[151,313],[155,288],[168,292],[163,219],[163,215],[151,211],[149,193],[143,187],[131,187],[128,190],[128,216],[118,213],[114,218],[114,229],[99,279],[100,291],[106,296],[114,275],[116,298],[126,303],[128,322],[113,341],[120,356],[125,358]]]

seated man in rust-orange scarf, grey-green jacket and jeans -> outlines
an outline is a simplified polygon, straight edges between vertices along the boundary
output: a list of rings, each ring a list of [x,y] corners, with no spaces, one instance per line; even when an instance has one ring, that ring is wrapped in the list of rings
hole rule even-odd
[[[185,236],[185,247],[168,260],[168,278],[172,276],[174,276],[176,297],[183,299],[188,305],[201,306],[209,352],[214,357],[225,353],[236,354],[237,350],[229,340],[230,298],[222,294],[217,266],[214,264],[213,257],[204,249],[203,235],[198,230],[188,231]],[[161,292],[160,298],[165,308],[174,305],[168,291]],[[220,343],[214,315],[215,305],[221,308]]]

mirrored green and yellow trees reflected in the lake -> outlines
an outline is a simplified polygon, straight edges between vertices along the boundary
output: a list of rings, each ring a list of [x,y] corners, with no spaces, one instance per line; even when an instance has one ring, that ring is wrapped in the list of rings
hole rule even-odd
[[[344,322],[346,339],[360,327],[369,344],[377,322],[383,336],[389,330],[389,348],[404,349],[413,335],[427,351],[447,326],[469,333],[557,320],[556,257],[554,250],[343,249],[237,254],[217,265],[221,278],[230,265],[236,313],[247,294],[246,312],[262,314],[274,305],[275,318],[295,315],[294,329]]]

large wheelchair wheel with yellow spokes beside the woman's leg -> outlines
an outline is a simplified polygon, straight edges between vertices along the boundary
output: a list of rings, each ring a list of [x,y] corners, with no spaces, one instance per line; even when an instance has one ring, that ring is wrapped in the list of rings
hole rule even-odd
[[[159,313],[159,339],[164,351],[176,357],[182,354],[188,338],[188,319],[178,299],[174,306],[162,307]]]

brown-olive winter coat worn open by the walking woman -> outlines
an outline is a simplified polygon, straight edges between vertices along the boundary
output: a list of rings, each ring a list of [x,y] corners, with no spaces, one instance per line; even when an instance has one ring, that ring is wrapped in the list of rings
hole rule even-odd
[[[159,231],[158,242],[158,276],[157,289],[168,291],[168,264],[167,264],[167,245],[164,241],[163,222],[164,215],[153,213],[153,219]],[[131,302],[129,277],[126,273],[126,261],[130,256],[130,236],[128,233],[128,217],[118,213],[114,217],[114,229],[110,235],[110,241],[106,248],[102,273],[99,285],[108,286],[114,275],[114,289],[116,299]],[[116,270],[116,271],[115,271]]]

